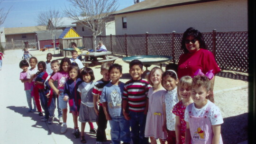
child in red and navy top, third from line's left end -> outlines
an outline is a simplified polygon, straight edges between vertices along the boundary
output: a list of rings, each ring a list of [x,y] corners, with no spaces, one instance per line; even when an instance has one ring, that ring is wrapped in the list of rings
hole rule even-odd
[[[46,63],[43,61],[40,61],[37,64],[37,68],[38,68],[38,72],[36,73],[37,78],[34,84],[38,88],[41,106],[45,111],[45,117],[41,118],[41,121],[47,121],[49,119],[49,110],[47,107],[48,99],[46,97],[46,91],[44,86],[46,78],[48,77],[48,74],[46,72]]]

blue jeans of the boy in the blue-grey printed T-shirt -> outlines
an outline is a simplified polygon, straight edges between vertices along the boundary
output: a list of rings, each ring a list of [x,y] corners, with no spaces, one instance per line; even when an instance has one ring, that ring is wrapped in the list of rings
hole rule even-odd
[[[120,144],[121,141],[125,143],[130,143],[130,128],[129,122],[124,118],[124,116],[120,117],[111,117],[112,120],[110,122],[110,135],[112,144]]]

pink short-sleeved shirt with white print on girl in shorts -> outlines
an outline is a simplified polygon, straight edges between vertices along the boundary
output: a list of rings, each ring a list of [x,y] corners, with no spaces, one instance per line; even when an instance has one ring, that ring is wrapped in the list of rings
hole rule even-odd
[[[52,76],[54,81],[58,80],[58,89],[64,90],[64,86],[68,77],[68,72],[57,72]]]

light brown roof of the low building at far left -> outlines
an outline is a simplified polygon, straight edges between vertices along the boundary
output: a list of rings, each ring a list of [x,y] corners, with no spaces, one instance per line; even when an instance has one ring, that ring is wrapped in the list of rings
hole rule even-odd
[[[40,31],[40,30],[46,30],[46,26],[4,28],[5,35],[31,34],[31,33],[35,33],[35,31]]]

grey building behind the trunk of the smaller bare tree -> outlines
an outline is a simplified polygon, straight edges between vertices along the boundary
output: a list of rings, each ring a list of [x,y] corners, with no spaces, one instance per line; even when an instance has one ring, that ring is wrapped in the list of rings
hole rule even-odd
[[[62,34],[62,32],[63,32],[62,29],[58,29],[56,31],[55,42],[59,42],[58,37]],[[48,30],[36,31],[36,34],[37,34],[38,49],[42,49],[45,45],[51,45],[53,43],[52,35]],[[50,48],[52,48],[52,47],[50,47]]]

